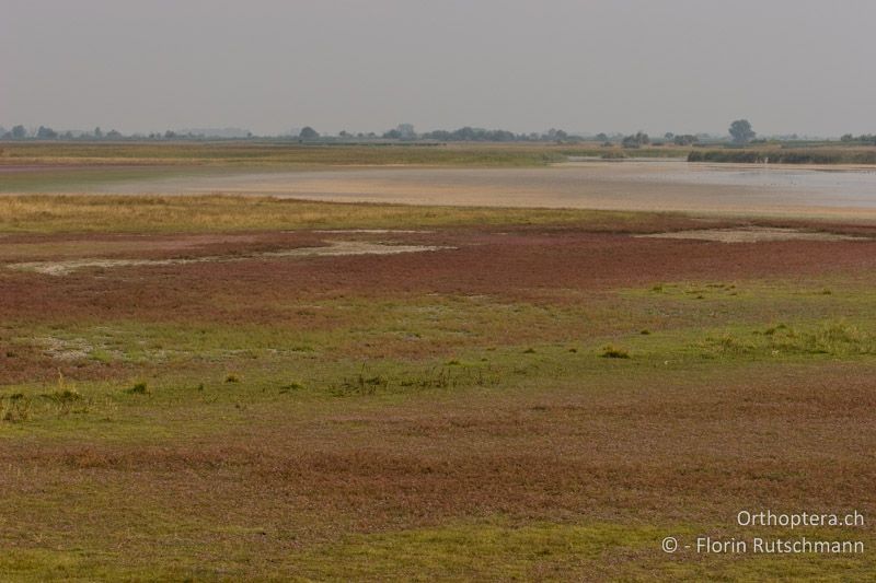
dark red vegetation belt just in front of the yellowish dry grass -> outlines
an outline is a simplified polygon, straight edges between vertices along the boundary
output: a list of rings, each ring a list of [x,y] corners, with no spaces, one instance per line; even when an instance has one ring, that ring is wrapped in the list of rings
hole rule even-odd
[[[87,269],[67,277],[0,268],[3,299],[0,317],[269,322],[278,317],[272,306],[318,298],[477,293],[537,299],[557,289],[606,290],[673,280],[861,275],[876,269],[876,241],[730,245],[576,230],[508,233],[457,230],[380,235],[277,233],[245,244],[204,242],[186,256],[277,250],[323,245],[332,240],[456,248],[392,256],[262,257],[234,263]],[[178,256],[178,253],[149,249],[126,256],[158,255]]]

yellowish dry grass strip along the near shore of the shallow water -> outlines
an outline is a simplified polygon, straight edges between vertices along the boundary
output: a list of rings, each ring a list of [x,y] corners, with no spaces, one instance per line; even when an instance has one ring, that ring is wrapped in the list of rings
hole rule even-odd
[[[232,196],[0,196],[0,233],[219,233],[292,229],[410,229],[588,224],[642,229],[693,224],[677,214],[590,210],[347,205]]]

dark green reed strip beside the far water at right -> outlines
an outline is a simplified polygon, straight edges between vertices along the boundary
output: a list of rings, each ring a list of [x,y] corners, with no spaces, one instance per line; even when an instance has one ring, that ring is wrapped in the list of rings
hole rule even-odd
[[[723,149],[693,150],[688,162],[727,162],[750,164],[876,164],[875,149]]]

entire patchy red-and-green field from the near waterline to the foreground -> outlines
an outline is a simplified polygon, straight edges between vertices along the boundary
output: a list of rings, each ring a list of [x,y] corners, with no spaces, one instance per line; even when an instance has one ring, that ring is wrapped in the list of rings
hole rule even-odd
[[[0,197],[0,579],[871,580],[876,230],[633,236],[734,225]]]

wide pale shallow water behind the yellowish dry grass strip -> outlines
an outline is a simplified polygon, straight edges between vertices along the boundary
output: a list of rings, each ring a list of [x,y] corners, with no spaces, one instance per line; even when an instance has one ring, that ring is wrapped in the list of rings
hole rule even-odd
[[[876,168],[570,162],[540,168],[356,167],[142,179],[105,193],[253,194],[314,200],[876,217]]]

